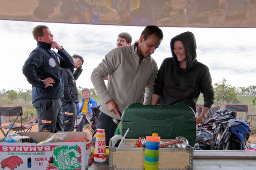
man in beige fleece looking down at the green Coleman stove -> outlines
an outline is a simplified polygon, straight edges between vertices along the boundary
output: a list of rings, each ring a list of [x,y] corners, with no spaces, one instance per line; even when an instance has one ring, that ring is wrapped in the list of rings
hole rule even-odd
[[[109,145],[126,106],[136,102],[150,105],[158,71],[151,54],[162,39],[162,30],[148,25],[139,41],[113,49],[92,71],[92,84],[102,99],[97,128],[105,129],[106,145]],[[103,78],[107,75],[106,87]]]

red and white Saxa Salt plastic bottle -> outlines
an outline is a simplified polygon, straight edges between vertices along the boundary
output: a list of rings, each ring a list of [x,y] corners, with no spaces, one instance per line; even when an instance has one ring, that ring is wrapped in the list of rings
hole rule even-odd
[[[107,160],[105,129],[97,129],[95,135],[94,162],[103,163]]]

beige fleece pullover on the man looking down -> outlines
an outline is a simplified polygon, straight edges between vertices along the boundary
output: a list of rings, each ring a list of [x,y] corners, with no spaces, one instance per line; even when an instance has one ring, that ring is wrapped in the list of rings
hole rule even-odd
[[[114,100],[121,113],[132,103],[150,105],[158,71],[156,61],[151,56],[144,58],[139,64],[139,55],[134,51],[134,44],[110,51],[91,75],[92,84],[102,99],[100,110],[119,120],[116,114],[108,110],[106,103]],[[106,87],[103,78],[108,75]]]

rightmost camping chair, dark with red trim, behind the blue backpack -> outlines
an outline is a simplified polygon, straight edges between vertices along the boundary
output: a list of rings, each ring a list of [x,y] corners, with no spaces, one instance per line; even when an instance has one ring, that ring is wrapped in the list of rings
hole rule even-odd
[[[225,105],[225,108],[230,111],[235,111],[237,113],[245,113],[245,122],[250,125],[253,116],[256,114],[248,114],[248,105]],[[248,121],[247,116],[250,116],[251,119]]]

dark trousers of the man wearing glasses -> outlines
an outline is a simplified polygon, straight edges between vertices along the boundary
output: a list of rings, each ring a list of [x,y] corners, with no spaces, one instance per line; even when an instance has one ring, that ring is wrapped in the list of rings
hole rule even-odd
[[[72,132],[76,119],[76,102],[62,105],[62,122],[65,132]]]

